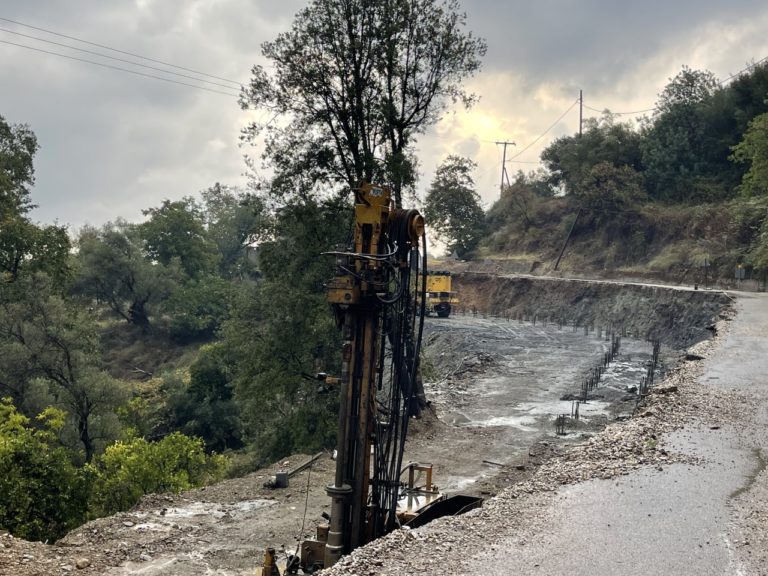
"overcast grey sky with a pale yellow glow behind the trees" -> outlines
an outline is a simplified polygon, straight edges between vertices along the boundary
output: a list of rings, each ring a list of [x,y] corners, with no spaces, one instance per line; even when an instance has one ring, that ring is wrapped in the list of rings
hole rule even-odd
[[[285,30],[303,5],[302,0],[3,0],[0,18],[245,83],[251,66],[262,62],[260,44]],[[421,137],[420,189],[427,188],[446,155],[469,156],[478,163],[477,189],[486,205],[499,193],[501,147],[494,142],[517,144],[508,149],[510,175],[536,168],[552,138],[578,130],[578,106],[556,120],[579,89],[592,108],[643,110],[654,105],[684,64],[722,80],[768,56],[768,3],[757,0],[463,0],[462,5],[469,29],[488,42],[483,71],[469,82],[480,102],[469,112],[448,114]],[[104,52],[7,20],[0,20],[0,29],[5,30],[0,31],[0,115],[29,124],[40,143],[35,219],[58,220],[73,229],[118,217],[135,221],[143,208],[165,198],[195,195],[214,182],[245,183],[245,150],[238,137],[249,115],[258,112],[241,111],[235,96],[9,45],[129,67],[20,36]],[[224,84],[207,85],[212,90],[237,92],[235,84],[209,79]],[[596,113],[586,109],[585,117],[590,115]]]

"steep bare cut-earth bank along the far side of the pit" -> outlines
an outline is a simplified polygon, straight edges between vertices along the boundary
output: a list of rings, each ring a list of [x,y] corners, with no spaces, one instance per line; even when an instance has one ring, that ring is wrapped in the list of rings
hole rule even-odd
[[[496,316],[611,327],[658,338],[676,349],[711,336],[713,321],[730,303],[719,291],[674,289],[647,284],[454,275],[461,308]]]

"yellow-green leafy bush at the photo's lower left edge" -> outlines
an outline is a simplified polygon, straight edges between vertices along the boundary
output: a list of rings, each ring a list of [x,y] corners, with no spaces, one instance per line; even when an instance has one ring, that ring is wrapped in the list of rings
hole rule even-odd
[[[27,540],[56,540],[83,522],[88,477],[57,434],[65,414],[48,408],[32,424],[0,400],[0,528]]]

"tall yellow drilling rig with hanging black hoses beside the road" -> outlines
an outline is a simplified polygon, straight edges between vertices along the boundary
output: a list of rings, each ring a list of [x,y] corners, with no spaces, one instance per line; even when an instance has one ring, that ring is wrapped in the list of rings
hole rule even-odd
[[[419,372],[428,281],[424,219],[395,207],[389,188],[368,183],[355,192],[354,218],[351,246],[326,253],[336,259],[327,299],[342,334],[341,374],[323,378],[339,387],[336,471],[326,488],[331,512],[316,537],[288,557],[286,574],[328,568],[446,502],[431,465],[403,465],[409,420],[426,407]],[[279,573],[268,548],[262,574]]]

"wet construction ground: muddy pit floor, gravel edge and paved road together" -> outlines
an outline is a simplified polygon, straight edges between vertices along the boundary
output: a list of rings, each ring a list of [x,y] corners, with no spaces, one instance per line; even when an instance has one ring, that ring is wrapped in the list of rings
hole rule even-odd
[[[768,550],[759,506],[768,491],[761,468],[768,418],[759,404],[768,301],[753,295],[739,306],[727,337],[728,322],[720,322],[720,348],[707,341],[691,352],[706,360],[665,350],[667,380],[639,406],[631,388],[650,344],[625,336],[565,436],[555,434],[554,418],[571,413],[573,401],[561,398],[578,395],[609,348],[602,330],[482,315],[429,319],[432,403],[412,420],[406,460],[434,464],[449,493],[489,499],[465,517],[397,530],[333,573],[764,573],[755,561]],[[329,454],[288,488],[264,487],[308,459],[149,496],[56,545],[0,535],[0,574],[257,574],[266,546],[293,552],[329,510]],[[680,556],[680,570],[661,570],[668,554]]]

